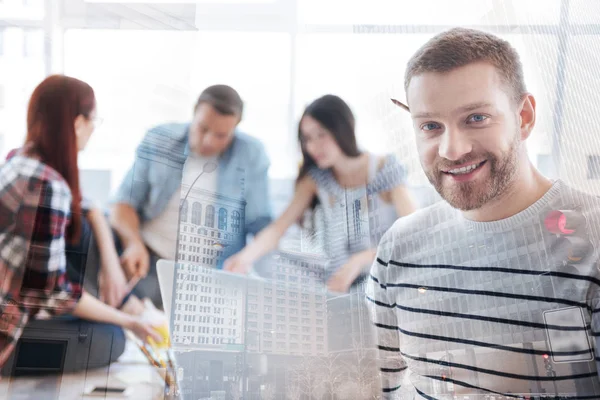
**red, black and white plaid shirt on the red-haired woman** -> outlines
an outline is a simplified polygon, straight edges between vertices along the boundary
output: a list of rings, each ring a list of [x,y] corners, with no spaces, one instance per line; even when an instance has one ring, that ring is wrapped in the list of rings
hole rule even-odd
[[[0,167],[0,366],[29,318],[70,312],[81,296],[65,273],[71,199],[40,161],[16,155]]]

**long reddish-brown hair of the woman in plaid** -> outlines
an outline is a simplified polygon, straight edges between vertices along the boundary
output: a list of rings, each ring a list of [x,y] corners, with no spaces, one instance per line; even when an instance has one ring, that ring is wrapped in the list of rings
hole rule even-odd
[[[64,75],[52,75],[38,85],[29,100],[26,147],[54,168],[71,189],[71,222],[67,240],[76,242],[81,234],[81,192],[77,167],[75,119],[90,118],[96,107],[90,85]]]

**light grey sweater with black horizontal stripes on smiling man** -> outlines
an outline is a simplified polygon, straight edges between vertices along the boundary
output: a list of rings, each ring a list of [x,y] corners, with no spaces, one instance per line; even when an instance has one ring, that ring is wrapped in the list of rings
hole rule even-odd
[[[600,398],[599,222],[560,180],[500,221],[446,202],[398,220],[366,294],[383,397]]]

